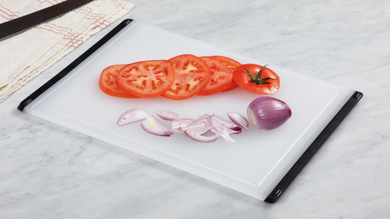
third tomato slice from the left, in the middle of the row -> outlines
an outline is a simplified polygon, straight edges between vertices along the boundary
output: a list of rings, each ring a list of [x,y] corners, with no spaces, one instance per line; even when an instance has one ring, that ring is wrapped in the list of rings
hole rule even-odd
[[[210,69],[200,58],[184,54],[168,60],[175,68],[175,80],[167,92],[168,99],[188,99],[203,90],[210,81]]]

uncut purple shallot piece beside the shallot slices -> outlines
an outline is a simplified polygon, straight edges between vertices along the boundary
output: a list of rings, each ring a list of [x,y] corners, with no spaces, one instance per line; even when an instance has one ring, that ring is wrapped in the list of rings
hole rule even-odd
[[[255,127],[265,130],[280,127],[292,116],[287,103],[271,96],[262,96],[253,100],[247,108],[247,113]]]

